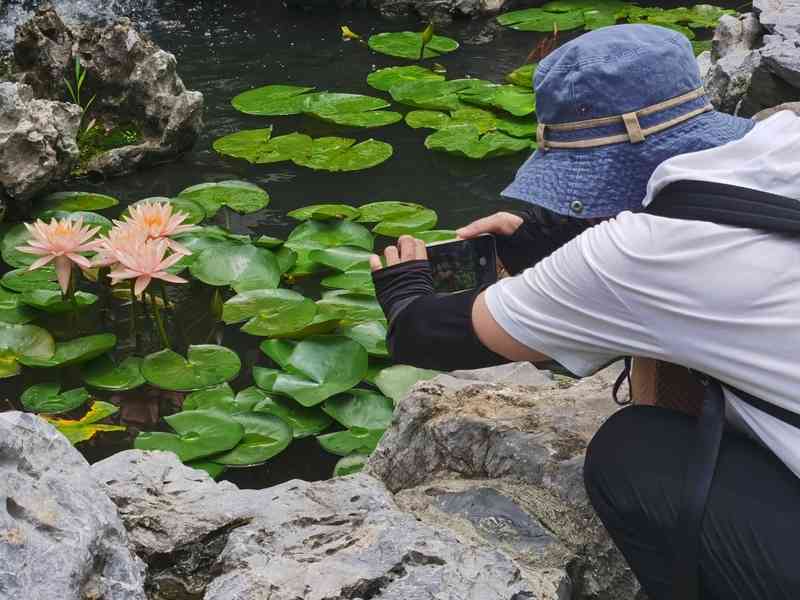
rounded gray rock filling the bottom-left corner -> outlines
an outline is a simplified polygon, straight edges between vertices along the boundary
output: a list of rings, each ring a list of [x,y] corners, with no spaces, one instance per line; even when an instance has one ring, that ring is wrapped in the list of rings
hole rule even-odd
[[[1,413],[0,481],[0,597],[145,599],[114,505],[55,428]]]

